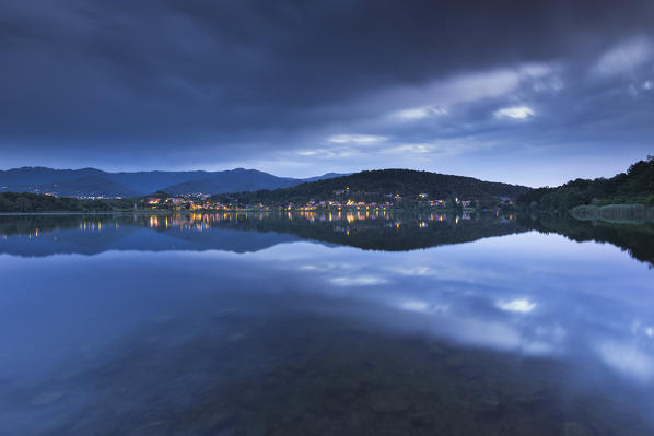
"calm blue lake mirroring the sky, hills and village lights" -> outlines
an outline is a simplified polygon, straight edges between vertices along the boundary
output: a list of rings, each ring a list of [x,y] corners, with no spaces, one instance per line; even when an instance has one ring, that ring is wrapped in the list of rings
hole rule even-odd
[[[652,435],[654,229],[0,216],[2,435]]]

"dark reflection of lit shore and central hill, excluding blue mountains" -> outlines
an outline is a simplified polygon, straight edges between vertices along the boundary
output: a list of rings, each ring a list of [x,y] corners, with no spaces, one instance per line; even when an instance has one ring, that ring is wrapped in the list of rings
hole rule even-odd
[[[303,239],[370,250],[402,251],[525,232],[513,215],[435,213],[196,213],[126,215],[22,215],[0,217],[0,235],[33,236],[79,229],[103,232],[126,226],[157,233],[232,229],[293,235]]]

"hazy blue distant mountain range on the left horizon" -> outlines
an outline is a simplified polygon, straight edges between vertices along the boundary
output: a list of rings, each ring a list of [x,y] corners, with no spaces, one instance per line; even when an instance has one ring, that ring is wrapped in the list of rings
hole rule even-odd
[[[0,192],[54,193],[69,197],[137,197],[155,191],[174,195],[224,193],[288,188],[342,176],[329,173],[306,179],[277,177],[256,169],[223,172],[107,173],[95,168],[22,167],[0,170]]]

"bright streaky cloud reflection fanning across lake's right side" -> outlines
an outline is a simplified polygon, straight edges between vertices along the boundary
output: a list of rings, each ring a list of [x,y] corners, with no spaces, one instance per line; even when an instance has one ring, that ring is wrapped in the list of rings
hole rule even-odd
[[[284,258],[299,246],[277,246],[262,258]],[[529,248],[535,246],[539,250]],[[397,310],[383,317],[386,328],[654,379],[651,322],[639,322],[643,341],[632,343],[632,320],[649,319],[654,306],[646,292],[651,271],[616,247],[522,234],[402,254],[310,244],[302,249],[303,266],[284,262],[281,271],[307,274],[316,284],[312,293],[363,303],[357,305],[367,307],[357,313],[361,319]],[[369,290],[351,293],[352,286]],[[517,288],[529,296],[517,296]],[[617,288],[623,290],[619,296]]]

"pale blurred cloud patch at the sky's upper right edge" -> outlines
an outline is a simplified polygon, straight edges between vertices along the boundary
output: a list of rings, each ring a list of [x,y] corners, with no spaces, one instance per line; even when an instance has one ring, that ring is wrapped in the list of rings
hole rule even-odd
[[[629,73],[654,58],[654,44],[640,37],[623,42],[606,51],[593,71],[600,75]]]

